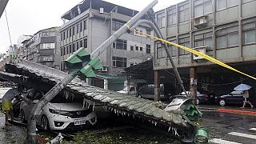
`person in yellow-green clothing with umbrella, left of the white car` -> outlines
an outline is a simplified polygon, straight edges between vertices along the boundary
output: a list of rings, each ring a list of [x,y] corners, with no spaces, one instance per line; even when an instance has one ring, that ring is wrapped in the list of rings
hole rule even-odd
[[[13,98],[20,98],[22,100],[25,100],[22,96],[21,93],[22,92],[22,88],[21,87],[17,87],[17,88],[13,88],[10,89],[6,92],[6,94],[3,95],[2,97],[2,110],[5,111],[5,115],[6,115],[6,126],[10,126],[10,122],[8,122],[8,118],[10,116],[11,121],[14,120],[14,114],[13,114],[13,104],[11,103],[11,100]]]

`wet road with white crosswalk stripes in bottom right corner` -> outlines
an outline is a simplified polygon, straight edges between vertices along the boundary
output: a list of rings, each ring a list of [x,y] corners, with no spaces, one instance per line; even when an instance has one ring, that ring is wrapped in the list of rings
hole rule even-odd
[[[256,143],[256,116],[203,112],[203,126],[210,130],[210,143]]]

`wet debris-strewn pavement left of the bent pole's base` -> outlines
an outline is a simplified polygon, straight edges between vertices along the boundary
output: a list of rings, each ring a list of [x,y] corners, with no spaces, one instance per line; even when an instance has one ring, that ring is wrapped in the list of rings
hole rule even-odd
[[[20,126],[6,126],[5,116],[0,111],[0,144],[25,143],[26,128]]]

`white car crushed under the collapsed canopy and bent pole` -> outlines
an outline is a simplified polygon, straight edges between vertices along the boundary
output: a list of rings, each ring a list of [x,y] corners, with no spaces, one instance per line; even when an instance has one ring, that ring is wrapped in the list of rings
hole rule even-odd
[[[41,94],[40,94],[41,93]],[[31,101],[38,101],[42,98],[42,92],[28,90],[24,94]],[[30,111],[34,104],[22,102],[20,114],[22,122],[26,122],[30,116]],[[82,107],[82,101],[72,102],[70,98],[66,99],[62,95],[57,95],[42,108],[42,112],[37,118],[37,125],[43,130],[64,130],[76,129],[82,126],[93,126],[97,122],[97,116],[92,109]]]

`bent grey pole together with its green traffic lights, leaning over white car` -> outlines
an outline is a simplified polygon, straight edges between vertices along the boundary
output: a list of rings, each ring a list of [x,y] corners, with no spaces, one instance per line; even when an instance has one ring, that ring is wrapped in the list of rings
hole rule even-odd
[[[28,119],[28,127],[27,127],[27,138],[26,143],[38,143],[38,135],[36,133],[36,118],[38,118],[38,114],[40,114],[42,107],[46,106],[51,99],[53,99],[68,83],[70,83],[78,74],[85,74],[87,76],[94,76],[94,71],[100,64],[98,56],[102,54],[116,39],[118,39],[122,34],[126,33],[128,29],[127,26],[133,26],[135,22],[137,22],[140,18],[142,18],[151,8],[153,8],[158,3],[158,0],[154,0],[151,2],[146,8],[140,11],[138,14],[131,18],[129,22],[127,22],[126,26],[122,26],[118,31],[116,31],[110,38],[108,38],[105,42],[102,43],[101,46],[98,46],[96,50],[92,54],[90,54],[90,59],[88,59],[88,54],[86,54],[84,48],[80,48],[77,52],[70,56],[66,60],[66,65],[69,65],[72,70],[70,74],[67,74],[65,78],[63,78],[60,82],[58,82],[50,91],[48,91],[39,102],[37,102]],[[77,64],[79,63],[79,64]],[[82,67],[82,69],[79,67]]]

